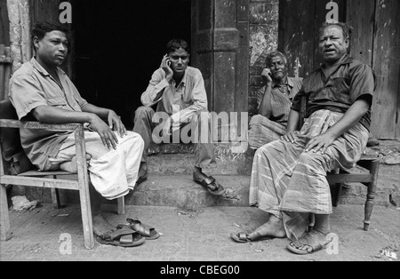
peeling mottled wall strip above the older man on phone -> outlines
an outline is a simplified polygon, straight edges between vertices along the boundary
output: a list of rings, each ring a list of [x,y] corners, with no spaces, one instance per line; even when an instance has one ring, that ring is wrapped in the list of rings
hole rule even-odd
[[[250,2],[250,91],[249,114],[257,114],[257,91],[264,85],[262,69],[268,52],[278,46],[279,0]]]

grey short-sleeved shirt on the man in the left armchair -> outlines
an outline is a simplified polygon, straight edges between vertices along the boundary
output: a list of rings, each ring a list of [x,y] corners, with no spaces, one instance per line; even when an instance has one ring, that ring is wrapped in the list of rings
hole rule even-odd
[[[58,84],[47,71],[32,58],[24,63],[10,81],[10,100],[20,120],[35,120],[33,109],[41,106],[82,111],[87,104],[76,86],[60,68]],[[30,161],[39,170],[52,169],[49,157],[57,155],[64,140],[71,132],[20,129],[21,145]]]

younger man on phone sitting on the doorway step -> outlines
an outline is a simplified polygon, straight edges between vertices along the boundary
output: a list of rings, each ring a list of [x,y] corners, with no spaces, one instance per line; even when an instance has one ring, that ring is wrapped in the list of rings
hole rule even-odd
[[[159,132],[156,128],[162,128],[160,131],[164,134],[163,139],[167,136],[168,141],[170,136],[176,139],[174,135],[178,133],[180,142],[182,142],[182,135],[185,134],[180,133],[183,129],[188,130],[188,127],[194,127],[200,130],[204,126],[210,129],[204,79],[199,69],[188,66],[189,52],[188,43],[184,40],[170,41],[160,68],[153,73],[147,90],[141,95],[143,107],[136,110],[133,121],[133,132],[139,133],[145,141],[140,164],[141,181],[148,178],[148,147],[154,142],[154,136],[158,136]],[[151,108],[155,105],[156,112]],[[163,117],[162,124],[157,121],[161,119],[160,116],[166,116],[166,119]],[[207,176],[202,171],[204,167],[216,161],[211,137],[204,140],[201,137],[202,132],[198,132],[198,135],[200,137],[197,139],[193,132],[190,135],[191,142],[195,143],[193,179],[210,194],[223,199],[232,199],[232,195],[229,194],[231,192],[226,191],[216,179]],[[183,140],[182,143],[188,142]]]

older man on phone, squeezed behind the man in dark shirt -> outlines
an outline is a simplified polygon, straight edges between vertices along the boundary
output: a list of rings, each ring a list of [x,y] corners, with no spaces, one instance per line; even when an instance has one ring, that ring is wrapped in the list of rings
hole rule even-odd
[[[258,149],[286,134],[292,99],[300,92],[302,78],[287,76],[284,53],[271,52],[262,72],[265,86],[257,94],[259,115],[250,121],[249,146]]]

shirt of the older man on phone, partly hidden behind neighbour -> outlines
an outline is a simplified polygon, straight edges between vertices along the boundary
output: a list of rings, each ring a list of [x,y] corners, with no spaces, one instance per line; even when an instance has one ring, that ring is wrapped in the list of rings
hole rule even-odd
[[[300,77],[287,77],[286,84],[276,84],[272,82],[271,100],[268,101],[268,119],[276,122],[278,124],[287,125],[289,119],[289,113],[292,107],[292,100],[294,96],[301,89],[301,83],[303,79]],[[259,92],[257,92],[257,101],[259,103],[258,109],[264,98],[266,87],[262,87]]]

